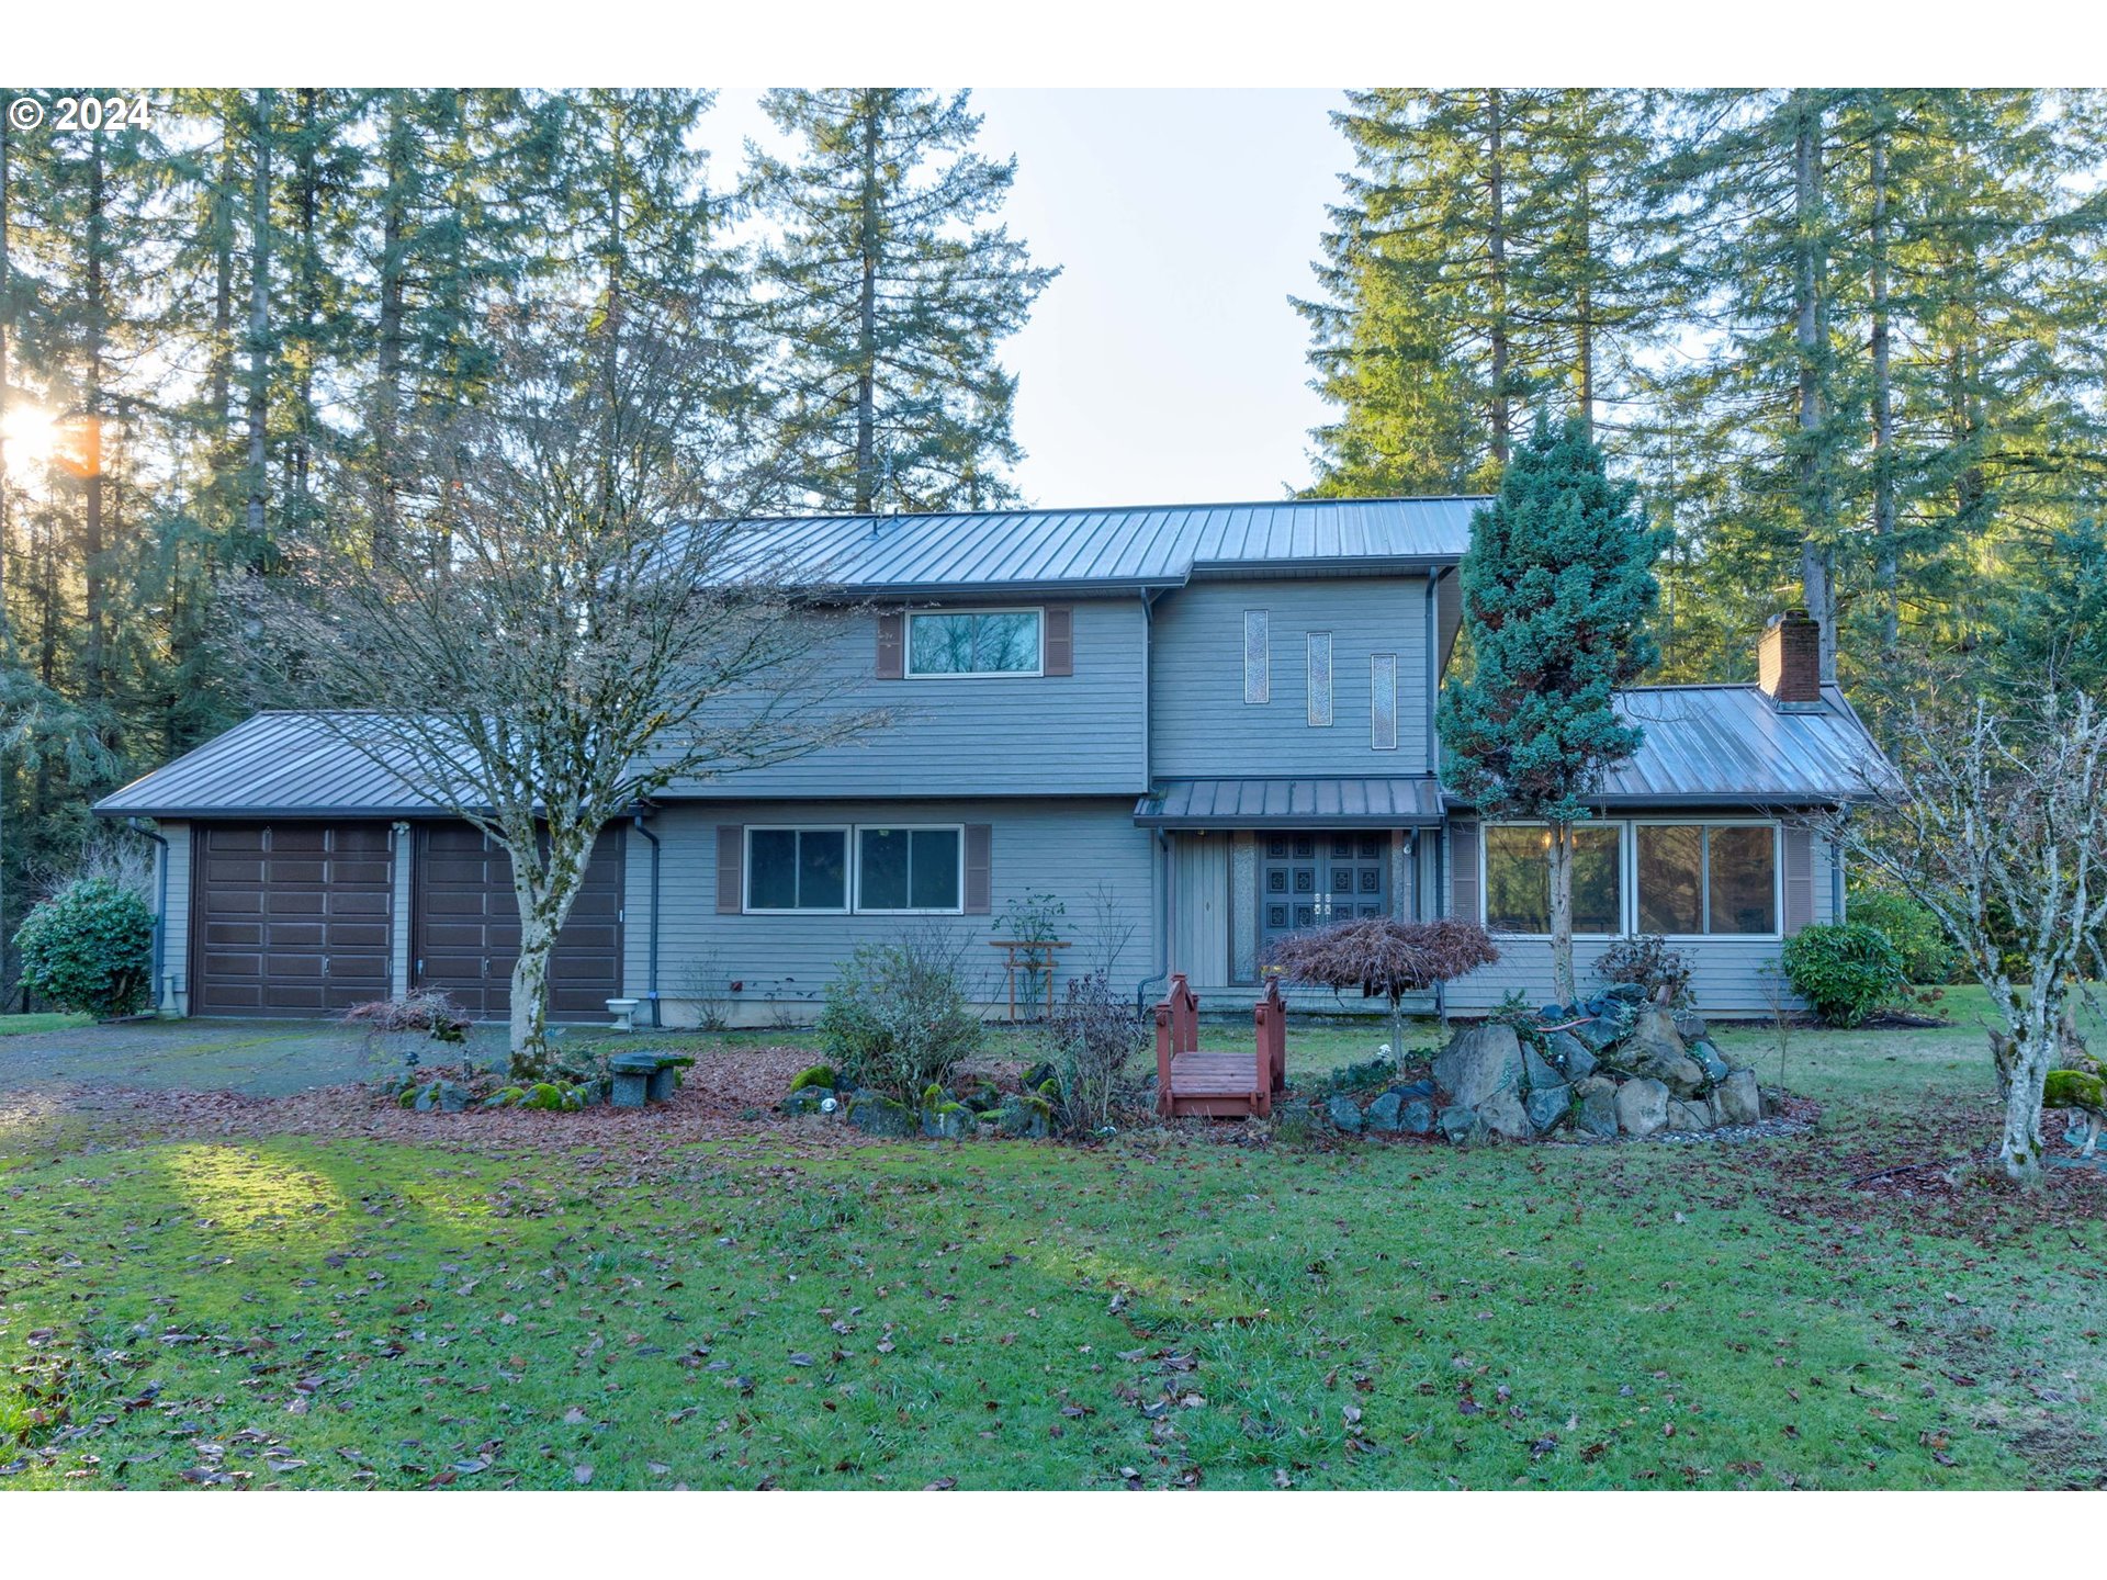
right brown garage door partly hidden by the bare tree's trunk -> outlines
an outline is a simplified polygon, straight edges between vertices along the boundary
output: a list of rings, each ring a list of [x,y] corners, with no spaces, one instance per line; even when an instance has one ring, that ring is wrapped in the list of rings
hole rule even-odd
[[[478,1020],[512,1013],[512,963],[520,912],[512,857],[468,824],[417,828],[415,940],[411,971],[421,988],[445,988]],[[622,992],[622,830],[592,847],[586,887],[550,961],[548,1005],[563,1020],[607,1015]]]

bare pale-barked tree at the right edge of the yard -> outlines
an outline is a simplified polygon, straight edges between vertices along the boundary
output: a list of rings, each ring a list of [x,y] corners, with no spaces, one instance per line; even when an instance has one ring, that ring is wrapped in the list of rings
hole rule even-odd
[[[2004,1022],[1991,1032],[2006,1178],[2042,1163],[2042,1085],[2107,929],[2107,714],[2082,693],[1976,699],[1894,720],[1898,794],[1875,824],[1835,819],[1850,855],[1919,900]]]

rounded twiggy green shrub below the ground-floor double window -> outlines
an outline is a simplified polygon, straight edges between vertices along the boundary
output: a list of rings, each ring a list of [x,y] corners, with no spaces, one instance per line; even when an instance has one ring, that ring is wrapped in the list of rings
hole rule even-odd
[[[980,1047],[957,952],[938,935],[860,946],[826,990],[818,1032],[847,1087],[908,1108]]]

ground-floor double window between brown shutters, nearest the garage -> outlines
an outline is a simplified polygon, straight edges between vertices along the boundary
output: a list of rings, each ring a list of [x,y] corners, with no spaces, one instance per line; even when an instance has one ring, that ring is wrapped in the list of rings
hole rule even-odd
[[[963,845],[959,824],[748,828],[744,908],[957,916]]]

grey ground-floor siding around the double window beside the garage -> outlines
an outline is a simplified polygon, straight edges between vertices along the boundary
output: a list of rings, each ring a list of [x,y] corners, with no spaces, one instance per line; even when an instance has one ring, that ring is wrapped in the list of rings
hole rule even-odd
[[[1077,655],[1081,664],[1081,653]],[[988,824],[992,866],[988,916],[750,916],[716,910],[716,828],[721,824]],[[697,1001],[710,999],[735,1024],[809,1018],[834,977],[834,965],[858,946],[936,927],[961,944],[969,992],[1001,1003],[1001,952],[990,940],[1003,910],[1028,893],[1054,893],[1066,906],[1056,992],[1089,969],[1096,916],[1091,891],[1104,883],[1131,933],[1117,950],[1112,984],[1131,994],[1157,971],[1157,872],[1153,836],[1134,826],[1125,796],[1077,801],[735,801],[681,803],[649,819],[664,841],[659,857],[659,994],[666,1024],[691,1024]],[[649,986],[651,847],[628,847],[628,921],[624,927],[624,992],[643,999]],[[729,984],[740,982],[740,992]],[[649,1020],[649,1015],[645,1015]]]

